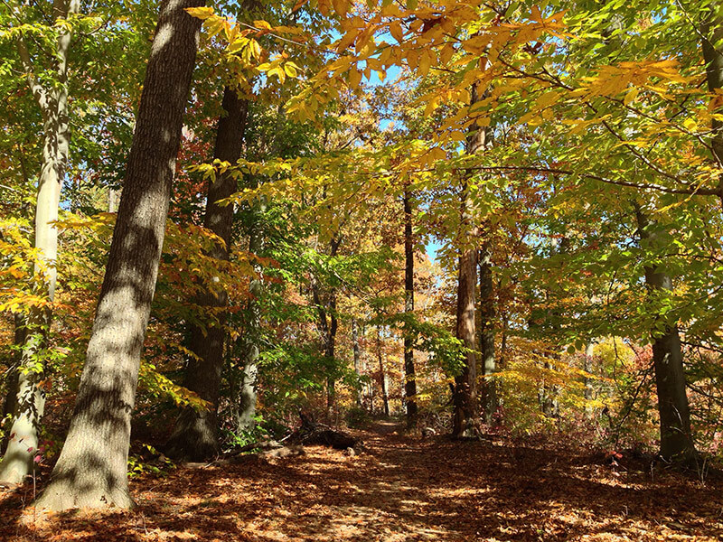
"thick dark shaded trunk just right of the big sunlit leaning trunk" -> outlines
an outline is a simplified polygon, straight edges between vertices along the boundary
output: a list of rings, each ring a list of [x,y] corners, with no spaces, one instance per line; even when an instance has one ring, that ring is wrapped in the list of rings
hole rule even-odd
[[[224,113],[216,130],[213,158],[233,165],[241,156],[249,102],[227,87],[223,91],[222,107]],[[229,259],[233,205],[220,205],[219,201],[229,198],[234,192],[236,179],[230,171],[226,171],[211,182],[206,200],[203,226],[223,240],[223,245],[216,244],[209,256],[223,261]],[[219,310],[228,304],[228,295],[206,289],[200,294],[197,304],[214,314],[202,315],[202,318],[207,318],[204,325],[191,326],[189,345],[194,357],[188,360],[183,386],[208,401],[209,407],[197,409],[185,406],[166,444],[166,453],[170,457],[194,462],[210,459],[218,453],[217,411],[226,343],[226,313]]]

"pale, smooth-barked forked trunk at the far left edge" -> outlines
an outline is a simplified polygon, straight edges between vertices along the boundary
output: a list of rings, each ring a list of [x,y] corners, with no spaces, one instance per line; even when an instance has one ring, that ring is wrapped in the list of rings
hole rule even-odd
[[[80,12],[80,0],[64,2],[55,0],[53,16],[56,20],[67,19],[71,14]],[[70,131],[68,121],[68,51],[70,50],[70,30],[61,32],[55,49],[57,84],[43,86],[33,75],[33,65],[23,38],[18,41],[23,68],[28,74],[33,97],[42,112],[42,169],[38,179],[38,198],[35,207],[35,248],[42,260],[34,266],[35,276],[44,280],[40,288],[46,299],[52,303],[55,297],[56,269],[58,256],[58,206],[61,200],[61,188],[65,168],[68,163]],[[0,463],[0,481],[19,483],[33,471],[34,458],[38,453],[38,434],[42,410],[45,405],[45,393],[42,390],[43,350],[47,345],[52,319],[49,307],[34,307],[27,314],[23,330],[23,349],[16,370],[16,398],[14,400],[14,422],[10,429],[10,439]]]

